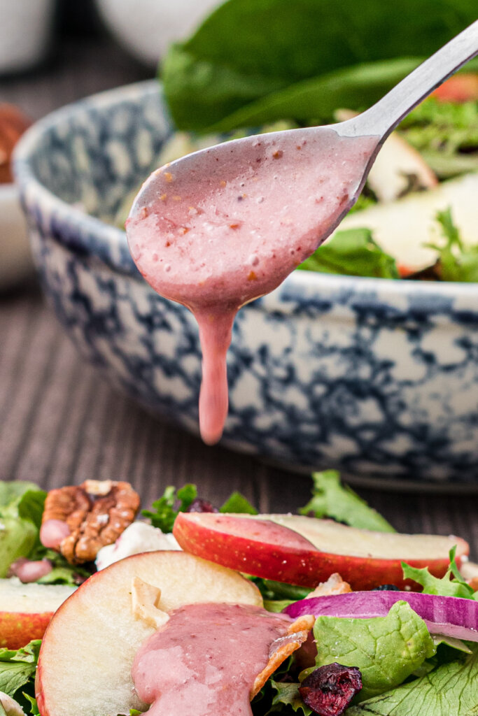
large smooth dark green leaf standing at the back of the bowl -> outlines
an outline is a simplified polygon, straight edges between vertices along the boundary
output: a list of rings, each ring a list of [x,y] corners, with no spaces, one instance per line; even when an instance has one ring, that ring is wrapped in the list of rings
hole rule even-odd
[[[474,19],[474,0],[229,0],[163,59],[166,99],[178,128],[199,131],[327,118],[339,99],[350,109],[378,100],[398,79],[388,62],[408,62],[403,76],[417,54],[435,52]]]

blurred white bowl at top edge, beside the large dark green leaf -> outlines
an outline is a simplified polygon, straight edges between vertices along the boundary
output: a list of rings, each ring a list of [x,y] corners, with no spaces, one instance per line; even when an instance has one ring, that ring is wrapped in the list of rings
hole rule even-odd
[[[96,0],[107,28],[141,62],[156,67],[168,45],[183,39],[219,0]]]

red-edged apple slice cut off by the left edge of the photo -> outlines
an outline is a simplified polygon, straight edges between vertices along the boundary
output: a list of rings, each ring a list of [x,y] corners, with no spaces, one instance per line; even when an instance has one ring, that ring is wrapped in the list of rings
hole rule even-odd
[[[42,639],[50,619],[75,591],[64,584],[21,584],[0,579],[0,647],[19,649],[32,639]]]

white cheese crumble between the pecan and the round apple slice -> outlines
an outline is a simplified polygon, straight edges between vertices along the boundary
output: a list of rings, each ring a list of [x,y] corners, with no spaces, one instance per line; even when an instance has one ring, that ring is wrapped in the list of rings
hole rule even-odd
[[[102,547],[96,556],[97,569],[105,569],[120,559],[140,552],[154,552],[158,549],[175,549],[181,547],[172,534],[161,532],[147,522],[133,522],[118,537],[114,544]]]

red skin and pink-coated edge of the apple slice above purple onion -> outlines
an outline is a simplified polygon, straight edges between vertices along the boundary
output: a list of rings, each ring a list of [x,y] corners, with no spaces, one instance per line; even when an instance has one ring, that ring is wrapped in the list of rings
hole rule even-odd
[[[253,523],[253,524],[252,524]],[[267,541],[269,526],[282,531],[281,543]],[[179,513],[173,534],[183,550],[209,559],[230,569],[264,579],[315,587],[338,572],[353,590],[374,589],[381,584],[396,584],[399,589],[418,586],[403,580],[401,561],[442,577],[448,569],[448,558],[383,559],[345,556],[318,551],[299,533],[275,523],[214,513]],[[278,535],[278,532],[274,532]],[[297,539],[299,538],[299,539]],[[468,553],[468,545],[457,538],[457,563]]]

